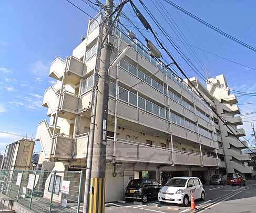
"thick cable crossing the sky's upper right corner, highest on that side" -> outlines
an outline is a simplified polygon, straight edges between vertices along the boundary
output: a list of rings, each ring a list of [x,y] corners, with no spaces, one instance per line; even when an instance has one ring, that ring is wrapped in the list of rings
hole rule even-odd
[[[242,46],[244,46],[244,47],[246,47],[246,48],[256,52],[256,49],[254,47],[250,46],[249,44],[246,44],[245,42],[243,42],[243,41],[241,41],[241,40],[239,40],[239,39],[237,39],[237,38],[235,38],[233,36],[231,36],[228,33],[225,33],[224,31],[218,29],[217,27],[214,27],[213,25],[207,23],[206,21],[202,20],[201,18],[197,17],[196,15],[193,15],[192,13],[188,12],[187,10],[185,10],[182,7],[178,6],[177,4],[171,2],[170,0],[163,0],[163,1],[165,1],[166,3],[168,3],[171,6],[175,7],[176,9],[180,10],[182,13],[185,13],[186,15],[188,15],[188,16],[192,17],[193,19],[197,20],[201,24],[206,25],[207,27],[211,28],[214,31],[217,31],[217,33],[221,34],[222,36],[225,36],[225,37],[227,37],[227,38],[237,42],[238,44],[240,44],[240,45],[242,45]]]

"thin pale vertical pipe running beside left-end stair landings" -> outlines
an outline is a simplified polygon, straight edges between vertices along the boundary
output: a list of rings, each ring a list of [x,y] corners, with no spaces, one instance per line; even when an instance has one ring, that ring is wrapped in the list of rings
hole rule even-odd
[[[66,57],[66,65],[65,65],[65,70],[63,73],[63,78],[62,78],[62,87],[60,88],[60,92],[59,92],[59,102],[58,102],[58,107],[57,107],[57,112],[55,115],[55,123],[54,123],[54,129],[53,129],[53,136],[52,136],[52,147],[50,149],[50,156],[49,156],[49,160],[51,160],[51,158],[53,158],[54,155],[54,143],[56,142],[56,138],[55,138],[55,134],[56,134],[56,127],[57,127],[57,121],[58,121],[58,116],[59,116],[59,111],[60,111],[60,104],[62,103],[62,97],[63,97],[63,88],[64,88],[64,79],[66,76],[66,71],[67,71],[67,65],[68,65],[68,57]]]

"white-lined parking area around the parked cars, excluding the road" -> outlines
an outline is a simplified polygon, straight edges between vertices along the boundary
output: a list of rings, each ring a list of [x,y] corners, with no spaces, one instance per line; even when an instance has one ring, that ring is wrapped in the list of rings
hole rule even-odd
[[[227,185],[207,185],[203,186],[206,190],[206,199],[204,201],[196,200],[196,207],[203,208],[214,201],[226,197],[235,191],[242,190],[241,186],[227,186]],[[159,207],[156,207],[156,204]],[[190,205],[190,204],[189,204]],[[190,207],[190,206],[189,206]],[[127,202],[126,204],[114,203],[114,206],[106,207],[106,212],[112,213],[125,213],[125,212],[135,212],[135,213],[144,213],[144,212],[192,212],[189,207],[182,207],[181,205],[176,204],[160,204],[157,199],[149,200],[146,204],[134,204],[133,202]]]

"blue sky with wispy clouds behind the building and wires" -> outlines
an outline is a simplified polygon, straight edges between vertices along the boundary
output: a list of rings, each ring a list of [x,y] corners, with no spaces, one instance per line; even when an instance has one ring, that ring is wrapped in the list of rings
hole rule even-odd
[[[72,2],[87,13],[96,15],[93,9],[80,0],[72,0]],[[159,2],[163,3],[162,0]],[[173,2],[256,47],[255,1],[246,1],[245,3],[244,1],[173,0]],[[134,3],[152,24],[152,20],[146,15],[139,2],[135,0]],[[144,3],[175,39],[177,45],[197,66],[196,61],[177,40],[179,38],[152,5],[152,2],[144,0]],[[256,68],[255,52],[222,37],[190,17],[177,12],[166,3],[163,4],[191,45]],[[134,14],[131,14],[130,6],[125,6],[124,12],[129,18],[135,20],[138,27],[143,28]],[[41,106],[44,90],[54,80],[48,77],[50,63],[57,56],[65,58],[71,55],[71,51],[79,44],[80,36],[87,30],[89,17],[65,0],[4,1],[1,3],[0,14],[0,131],[19,135],[27,134],[28,137],[35,136],[37,123],[46,118],[47,109]],[[124,23],[128,24],[126,21]],[[155,25],[152,24],[152,27],[159,33],[159,29]],[[133,30],[141,38],[138,31]],[[150,33],[145,30],[141,31],[146,37],[151,38]],[[167,40],[160,33],[158,35],[170,47]],[[177,52],[171,47],[170,50],[189,76],[194,76],[195,73],[186,66]],[[254,70],[203,53],[198,49],[194,50],[206,65],[211,76],[223,73],[231,89],[245,92],[256,90]],[[242,103],[256,102],[256,97],[243,96],[238,99]],[[252,112],[255,105],[241,105],[240,108],[242,113]],[[248,117],[245,120],[255,120],[256,117],[251,118],[251,116],[245,116]],[[249,138],[250,122],[246,122],[244,127]],[[18,136],[0,133],[0,153],[4,151],[5,144],[18,138]],[[38,143],[36,151],[39,150]]]

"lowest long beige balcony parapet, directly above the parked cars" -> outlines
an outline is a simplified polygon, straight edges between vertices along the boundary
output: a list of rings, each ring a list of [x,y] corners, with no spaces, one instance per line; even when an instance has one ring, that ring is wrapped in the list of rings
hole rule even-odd
[[[107,143],[106,155],[108,159],[112,159],[112,155],[114,154],[114,140],[109,139]],[[201,156],[198,154],[174,150],[172,159],[172,152],[170,148],[147,145],[145,143],[138,143],[124,139],[117,139],[116,160],[134,163],[144,162],[172,164],[172,162],[174,162],[179,165],[202,165]],[[203,156],[203,165],[217,167],[217,158]]]

